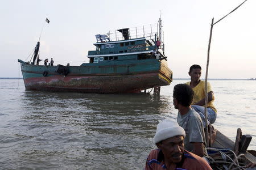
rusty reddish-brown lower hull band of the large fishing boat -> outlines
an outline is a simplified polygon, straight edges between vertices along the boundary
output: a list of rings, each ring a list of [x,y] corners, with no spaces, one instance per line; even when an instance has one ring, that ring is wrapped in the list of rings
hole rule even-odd
[[[68,91],[85,93],[138,92],[154,86],[167,86],[171,81],[159,73],[113,76],[63,76],[53,75],[24,79],[26,90]]]

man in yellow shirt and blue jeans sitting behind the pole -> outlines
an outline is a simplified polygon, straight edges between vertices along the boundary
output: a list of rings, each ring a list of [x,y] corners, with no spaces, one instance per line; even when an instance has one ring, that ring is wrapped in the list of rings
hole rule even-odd
[[[201,66],[199,65],[192,65],[189,68],[188,72],[189,76],[191,77],[191,82],[187,82],[192,90],[195,92],[192,102],[192,108],[199,113],[201,116],[204,127],[205,127],[205,117],[204,117],[204,103],[205,103],[205,81],[200,80],[201,76]],[[212,91],[212,87],[210,83],[207,82],[207,95],[208,95],[208,104],[207,104],[207,120],[208,124],[213,124],[216,121],[217,117],[217,110],[213,105],[214,95]]]

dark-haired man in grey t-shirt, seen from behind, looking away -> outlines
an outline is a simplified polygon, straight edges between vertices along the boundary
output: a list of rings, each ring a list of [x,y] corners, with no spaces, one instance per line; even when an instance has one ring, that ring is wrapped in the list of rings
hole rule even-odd
[[[178,109],[177,123],[185,130],[185,149],[198,156],[207,155],[201,117],[191,109],[194,92],[187,84],[174,86],[174,108]]]

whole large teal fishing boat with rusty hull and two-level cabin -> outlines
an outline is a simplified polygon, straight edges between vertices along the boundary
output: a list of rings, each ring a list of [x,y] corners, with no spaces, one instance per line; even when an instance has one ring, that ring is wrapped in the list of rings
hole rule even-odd
[[[87,93],[140,92],[167,86],[172,71],[164,55],[162,20],[96,35],[96,50],[80,66],[39,65],[37,43],[30,61],[20,62],[26,90]]]

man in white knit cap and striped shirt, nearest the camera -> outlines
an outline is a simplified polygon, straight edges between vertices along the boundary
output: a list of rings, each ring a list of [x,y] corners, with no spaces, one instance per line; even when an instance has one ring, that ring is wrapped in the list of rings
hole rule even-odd
[[[185,131],[176,121],[161,121],[153,138],[153,143],[158,149],[152,150],[148,155],[145,170],[212,169],[203,158],[184,150],[184,137]]]

